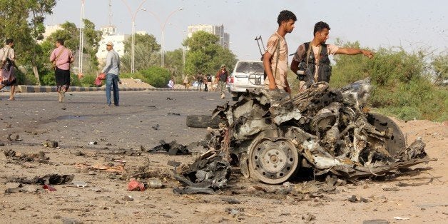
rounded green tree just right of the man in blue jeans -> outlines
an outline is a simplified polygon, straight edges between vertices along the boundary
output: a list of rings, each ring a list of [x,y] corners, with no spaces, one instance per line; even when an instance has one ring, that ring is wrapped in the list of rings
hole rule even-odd
[[[160,54],[161,45],[157,44],[156,37],[152,34],[136,34],[136,45],[134,46],[134,63],[136,71],[147,69],[161,63]],[[131,38],[124,41],[125,54],[121,57],[121,71],[131,71]]]

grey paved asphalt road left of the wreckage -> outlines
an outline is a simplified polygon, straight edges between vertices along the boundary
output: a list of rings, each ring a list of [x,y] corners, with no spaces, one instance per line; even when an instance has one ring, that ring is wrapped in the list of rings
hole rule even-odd
[[[62,147],[98,146],[109,148],[151,148],[158,141],[176,140],[188,144],[205,136],[205,129],[188,128],[190,114],[210,115],[226,101],[218,93],[183,91],[121,92],[121,106],[106,106],[104,92],[67,93],[66,103],[56,93],[18,93],[16,101],[0,94],[0,141],[19,134],[20,144],[58,141]],[[180,115],[176,115],[180,114]],[[159,125],[155,130],[152,126]],[[18,143],[16,143],[18,144]]]

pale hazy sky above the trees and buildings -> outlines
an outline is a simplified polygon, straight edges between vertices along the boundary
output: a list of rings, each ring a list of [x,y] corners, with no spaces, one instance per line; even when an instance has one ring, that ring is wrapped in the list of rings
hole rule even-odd
[[[165,27],[165,50],[181,47],[188,25],[224,25],[230,34],[230,50],[240,59],[258,59],[255,36],[261,35],[266,44],[278,28],[277,16],[287,9],[297,16],[295,29],[287,34],[287,44],[292,54],[297,46],[312,39],[312,29],[317,21],[330,25],[330,39],[360,41],[361,46],[402,46],[407,51],[429,49],[448,50],[448,1],[442,0],[123,0],[136,14],[136,31],[146,31],[161,42],[161,25],[176,9],[184,8],[170,16]],[[121,0],[112,0],[112,24],[119,34],[131,34],[131,14]],[[93,21],[99,29],[109,24],[108,0],[85,0],[84,18]],[[136,13],[137,12],[137,13]],[[153,14],[158,15],[159,22]],[[46,24],[71,21],[79,26],[81,0],[58,0],[54,14]],[[290,58],[291,59],[291,58]]]

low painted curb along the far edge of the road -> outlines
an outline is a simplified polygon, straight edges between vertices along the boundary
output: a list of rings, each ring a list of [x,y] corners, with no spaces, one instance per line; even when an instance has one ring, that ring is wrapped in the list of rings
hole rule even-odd
[[[69,92],[93,92],[104,91],[106,87],[82,87],[82,86],[70,86]],[[56,86],[24,86],[19,85],[16,87],[17,92],[20,93],[50,93],[56,92]],[[185,88],[130,88],[120,87],[118,91],[195,91],[194,89]]]

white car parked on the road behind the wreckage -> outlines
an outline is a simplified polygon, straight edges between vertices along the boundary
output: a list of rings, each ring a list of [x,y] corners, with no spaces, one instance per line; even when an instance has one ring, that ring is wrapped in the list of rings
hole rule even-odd
[[[238,101],[248,88],[263,88],[264,73],[263,61],[238,61],[229,81],[232,100]]]

